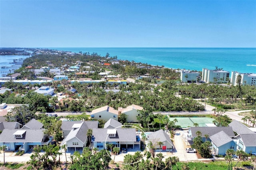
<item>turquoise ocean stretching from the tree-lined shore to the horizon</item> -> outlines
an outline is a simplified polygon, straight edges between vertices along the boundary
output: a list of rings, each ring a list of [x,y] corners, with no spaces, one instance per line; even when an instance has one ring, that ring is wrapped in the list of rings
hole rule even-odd
[[[61,48],[63,51],[117,55],[118,59],[159,65],[173,69],[202,71],[202,68],[256,73],[256,48]]]

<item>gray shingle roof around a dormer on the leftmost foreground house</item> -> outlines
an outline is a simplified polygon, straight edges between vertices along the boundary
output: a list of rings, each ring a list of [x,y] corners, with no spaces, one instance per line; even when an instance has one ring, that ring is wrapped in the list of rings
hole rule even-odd
[[[44,129],[26,129],[23,138],[14,138],[13,134],[20,129],[4,129],[0,142],[43,142]]]

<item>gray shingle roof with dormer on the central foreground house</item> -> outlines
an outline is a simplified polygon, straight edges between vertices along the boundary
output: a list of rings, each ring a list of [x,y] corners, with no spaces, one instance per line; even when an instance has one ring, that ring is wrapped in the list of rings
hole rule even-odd
[[[94,142],[105,142],[108,134],[107,128],[94,128],[92,129],[92,141]],[[116,137],[107,138],[107,142],[136,142],[136,130],[135,128],[117,128]]]

